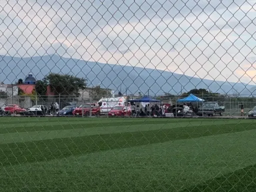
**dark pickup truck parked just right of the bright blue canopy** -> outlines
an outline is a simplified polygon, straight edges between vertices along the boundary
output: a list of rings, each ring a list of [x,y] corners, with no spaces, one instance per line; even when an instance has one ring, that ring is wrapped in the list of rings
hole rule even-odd
[[[197,114],[199,116],[208,115],[208,116],[215,116],[215,114],[219,114],[220,116],[223,115],[225,111],[225,106],[220,106],[217,102],[204,102]]]

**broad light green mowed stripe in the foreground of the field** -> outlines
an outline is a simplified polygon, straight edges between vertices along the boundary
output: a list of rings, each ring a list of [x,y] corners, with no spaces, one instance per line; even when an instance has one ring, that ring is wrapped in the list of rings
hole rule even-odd
[[[2,191],[179,191],[219,173],[227,174],[253,164],[255,132],[254,129],[2,166],[0,188]]]

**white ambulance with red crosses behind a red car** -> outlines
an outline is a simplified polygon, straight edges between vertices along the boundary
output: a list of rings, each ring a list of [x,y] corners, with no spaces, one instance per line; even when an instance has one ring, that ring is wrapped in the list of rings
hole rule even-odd
[[[126,98],[123,96],[115,98],[101,98],[98,101],[98,105],[100,107],[100,114],[107,114],[114,106],[125,106]]]

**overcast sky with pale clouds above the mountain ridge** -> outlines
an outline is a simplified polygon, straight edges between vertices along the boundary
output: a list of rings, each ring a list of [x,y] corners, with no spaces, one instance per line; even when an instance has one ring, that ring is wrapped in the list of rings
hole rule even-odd
[[[1,0],[0,54],[253,83],[255,25],[255,0]]]

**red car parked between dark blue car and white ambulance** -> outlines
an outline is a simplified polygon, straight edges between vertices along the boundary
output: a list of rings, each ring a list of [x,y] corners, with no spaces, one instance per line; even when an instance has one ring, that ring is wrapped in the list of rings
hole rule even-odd
[[[79,107],[75,108],[73,110],[73,115],[82,115],[82,110],[83,110],[83,115],[84,116],[89,116],[90,115],[90,110],[91,110],[91,115],[99,115],[100,114],[100,108],[98,103],[85,103],[81,104]]]

